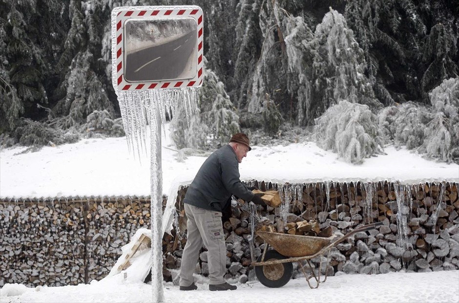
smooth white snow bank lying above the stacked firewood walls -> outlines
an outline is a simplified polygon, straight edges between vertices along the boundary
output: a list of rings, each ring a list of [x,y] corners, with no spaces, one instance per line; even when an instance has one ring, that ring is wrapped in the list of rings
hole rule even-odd
[[[183,162],[173,151],[168,125],[162,132],[163,193],[173,182],[189,183],[206,159],[188,156]],[[129,152],[126,138],[83,139],[74,144],[0,151],[0,197],[91,195],[150,195],[149,149],[141,156]],[[399,181],[401,183],[459,182],[459,165],[429,161],[393,146],[384,155],[352,165],[313,142],[286,146],[253,146],[239,165],[241,180],[265,182]]]

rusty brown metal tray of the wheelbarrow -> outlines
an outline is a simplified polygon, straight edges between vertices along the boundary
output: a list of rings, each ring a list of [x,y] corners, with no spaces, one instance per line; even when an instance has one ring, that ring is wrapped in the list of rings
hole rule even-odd
[[[277,252],[286,257],[305,257],[318,253],[321,249],[337,238],[333,235],[328,238],[280,234],[257,231],[256,235],[270,244]]]

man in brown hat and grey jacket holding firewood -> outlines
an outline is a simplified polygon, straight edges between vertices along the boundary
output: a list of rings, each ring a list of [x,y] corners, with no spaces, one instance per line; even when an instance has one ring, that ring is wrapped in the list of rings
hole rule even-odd
[[[231,195],[255,204],[264,204],[239,179],[239,163],[250,151],[249,138],[236,133],[230,143],[214,151],[203,163],[185,195],[188,239],[180,269],[180,290],[194,290],[193,272],[203,244],[208,249],[209,290],[235,290],[225,281],[226,244],[222,210],[230,207]]]

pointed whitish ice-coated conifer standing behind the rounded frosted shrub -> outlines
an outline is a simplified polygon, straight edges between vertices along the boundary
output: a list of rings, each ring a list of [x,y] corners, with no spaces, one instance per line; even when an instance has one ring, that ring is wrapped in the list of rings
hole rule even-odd
[[[331,9],[317,25],[313,43],[313,110],[324,112],[340,100],[371,108],[381,105],[365,76],[363,51],[343,15]]]

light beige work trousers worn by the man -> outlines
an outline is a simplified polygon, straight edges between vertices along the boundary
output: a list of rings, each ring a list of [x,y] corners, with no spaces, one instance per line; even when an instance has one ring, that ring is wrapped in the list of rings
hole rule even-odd
[[[208,250],[209,284],[225,283],[226,245],[223,234],[222,213],[184,204],[188,222],[188,239],[183,250],[180,267],[180,286],[193,282],[193,273],[203,244]]]

